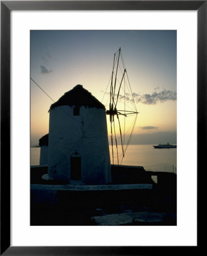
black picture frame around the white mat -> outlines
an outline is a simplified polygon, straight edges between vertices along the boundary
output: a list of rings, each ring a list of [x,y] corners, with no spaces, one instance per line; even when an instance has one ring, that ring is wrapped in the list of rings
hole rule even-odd
[[[12,10],[197,10],[197,177],[206,150],[207,1],[1,1],[1,255],[198,253],[197,246],[10,246],[10,12]],[[198,185],[198,184],[197,184]],[[197,187],[199,198],[199,190]],[[197,205],[198,207],[198,205]],[[197,208],[199,213],[199,208]],[[191,225],[191,224],[189,224]],[[199,224],[198,224],[199,228]],[[197,230],[198,231],[198,230]],[[199,246],[199,247],[198,247]]]

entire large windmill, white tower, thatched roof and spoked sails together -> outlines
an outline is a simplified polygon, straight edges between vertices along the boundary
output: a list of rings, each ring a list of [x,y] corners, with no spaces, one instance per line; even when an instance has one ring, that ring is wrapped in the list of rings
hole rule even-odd
[[[109,84],[108,109],[82,85],[76,85],[55,102],[36,84],[54,102],[49,109],[49,179],[110,183],[106,115],[110,121],[113,165],[115,159],[118,165],[122,163],[138,115],[121,48],[114,53]]]

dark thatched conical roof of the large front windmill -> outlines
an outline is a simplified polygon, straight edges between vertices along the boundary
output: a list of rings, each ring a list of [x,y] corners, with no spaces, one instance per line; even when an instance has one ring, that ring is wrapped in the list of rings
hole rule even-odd
[[[105,109],[105,106],[80,84],[74,86],[72,90],[69,90],[61,96],[58,101],[51,105],[50,109],[64,105],[88,106],[89,108]]]

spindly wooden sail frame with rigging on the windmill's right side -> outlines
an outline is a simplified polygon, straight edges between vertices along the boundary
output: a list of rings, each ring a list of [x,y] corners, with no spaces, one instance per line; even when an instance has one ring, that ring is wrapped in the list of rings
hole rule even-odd
[[[122,66],[120,63],[122,64]],[[118,81],[119,69],[121,71],[121,82]],[[126,82],[127,82],[127,89],[129,93],[126,93],[126,90],[125,90]],[[119,83],[119,86],[117,86],[118,83]],[[122,88],[122,85],[124,85],[124,89]],[[121,97],[120,97],[121,89],[123,89],[123,92],[124,92],[124,96],[122,96],[122,98],[124,98],[124,110],[119,109],[119,102],[121,101]],[[130,103],[132,104],[132,108],[127,110],[126,110],[126,95],[127,95],[127,101],[131,100]],[[131,97],[131,99],[129,96]],[[122,163],[122,160],[125,157],[126,149],[129,146],[129,143],[131,141],[131,137],[133,135],[133,131],[136,123],[136,118],[138,115],[133,93],[131,91],[129,77],[127,75],[125,63],[123,61],[121,48],[119,48],[118,51],[114,53],[113,70],[111,74],[111,86],[110,86],[110,104],[109,104],[109,110],[106,110],[106,115],[109,115],[109,120],[110,120],[110,133],[111,133],[110,137],[111,137],[111,152],[112,152],[113,165],[114,165],[114,158],[117,158],[117,164],[119,165],[119,163]],[[130,135],[126,143],[125,141],[126,121],[124,121],[124,128],[123,128],[124,131],[122,132],[122,124],[119,116],[126,118],[129,115],[135,115],[135,118],[134,118],[132,127],[130,127]],[[119,135],[121,139],[121,155],[119,155],[119,152],[118,152],[117,134],[115,131],[115,122],[116,122],[115,120],[117,120],[118,127],[119,127]],[[114,144],[117,150],[117,156],[114,155]]]

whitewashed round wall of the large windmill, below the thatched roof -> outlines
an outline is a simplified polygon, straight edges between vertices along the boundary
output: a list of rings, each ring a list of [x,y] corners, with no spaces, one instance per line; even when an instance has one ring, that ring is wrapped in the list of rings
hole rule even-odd
[[[111,181],[110,155],[104,109],[57,106],[49,112],[49,168],[52,179],[70,180],[71,155],[81,155],[81,177],[85,184]]]

